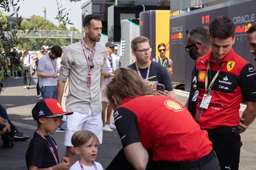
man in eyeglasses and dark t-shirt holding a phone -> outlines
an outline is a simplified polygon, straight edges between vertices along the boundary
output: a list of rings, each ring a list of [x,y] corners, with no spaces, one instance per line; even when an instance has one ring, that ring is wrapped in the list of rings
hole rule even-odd
[[[131,41],[131,49],[133,56],[136,57],[136,62],[129,65],[128,68],[137,71],[143,80],[149,82],[153,90],[156,90],[157,83],[163,84],[164,92],[157,90],[155,93],[174,99],[175,93],[168,71],[164,66],[150,60],[152,47],[149,45],[149,39],[144,36],[135,37]]]

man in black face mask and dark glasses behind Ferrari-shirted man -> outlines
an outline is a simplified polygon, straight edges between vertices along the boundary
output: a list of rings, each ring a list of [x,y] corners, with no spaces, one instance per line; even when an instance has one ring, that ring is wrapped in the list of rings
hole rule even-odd
[[[208,54],[211,51],[210,42],[208,39],[209,29],[206,26],[196,26],[190,29],[187,37],[187,46],[185,49],[189,52],[190,58],[197,60],[197,58]],[[195,76],[195,68],[192,71],[191,87],[189,93],[189,99],[185,104],[185,107],[189,110],[191,115],[195,116],[197,100],[194,95],[197,95],[197,80]]]

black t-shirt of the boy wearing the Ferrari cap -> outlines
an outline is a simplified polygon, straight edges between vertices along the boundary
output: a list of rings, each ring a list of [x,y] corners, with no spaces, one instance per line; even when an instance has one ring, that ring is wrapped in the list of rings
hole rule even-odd
[[[57,145],[54,138],[49,135],[45,136],[45,138],[52,145],[57,160],[60,163],[57,148],[55,147]],[[26,164],[28,169],[31,165],[38,168],[49,168],[57,165],[47,141],[45,141],[45,139],[40,135],[34,133],[33,139],[31,139],[26,152]]]

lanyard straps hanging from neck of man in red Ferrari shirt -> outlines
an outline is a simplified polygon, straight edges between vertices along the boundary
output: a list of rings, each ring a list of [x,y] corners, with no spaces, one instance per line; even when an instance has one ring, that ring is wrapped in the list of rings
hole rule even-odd
[[[222,66],[225,64],[226,62],[223,62],[219,68],[219,70],[217,71],[217,73],[215,74],[215,76],[213,77],[213,80],[211,80],[211,83],[209,84],[209,87],[207,88],[208,85],[208,71],[209,71],[209,75],[210,75],[210,79],[211,79],[211,62],[209,61],[208,66],[207,66],[207,72],[206,72],[206,78],[205,78],[205,82],[204,82],[204,88],[205,88],[205,94],[207,93],[207,96],[209,97],[211,95],[211,90],[213,88],[213,84],[216,80],[216,78],[218,77],[219,73],[220,73],[220,69],[222,68]],[[203,108],[199,107],[198,112],[196,114],[196,120],[198,121],[202,115],[202,111]]]

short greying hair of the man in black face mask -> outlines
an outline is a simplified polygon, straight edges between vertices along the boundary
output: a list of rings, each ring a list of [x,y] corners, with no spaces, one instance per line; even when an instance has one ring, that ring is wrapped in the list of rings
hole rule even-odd
[[[206,26],[196,26],[190,29],[188,33],[194,41],[199,41],[203,46],[210,46],[208,39],[209,34],[209,29]]]

